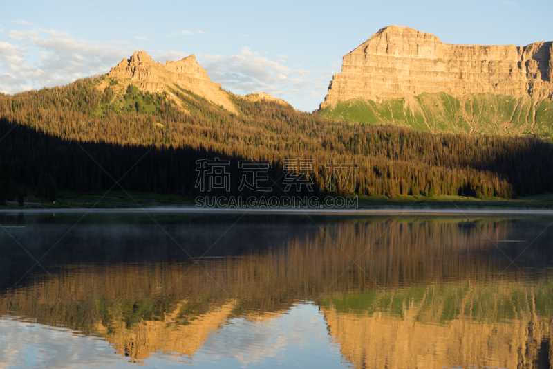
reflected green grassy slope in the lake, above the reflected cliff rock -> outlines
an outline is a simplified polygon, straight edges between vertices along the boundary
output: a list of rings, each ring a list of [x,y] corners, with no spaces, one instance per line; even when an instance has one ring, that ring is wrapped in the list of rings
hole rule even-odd
[[[319,304],[324,310],[333,307],[340,314],[384,313],[400,318],[409,314],[415,321],[438,324],[463,317],[497,323],[551,316],[552,283],[542,279],[534,286],[512,281],[439,283],[323,296]]]

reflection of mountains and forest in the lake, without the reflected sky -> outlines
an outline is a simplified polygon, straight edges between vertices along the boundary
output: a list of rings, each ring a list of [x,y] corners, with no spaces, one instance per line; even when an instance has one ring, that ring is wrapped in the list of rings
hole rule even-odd
[[[311,301],[342,357],[359,368],[550,367],[552,232],[516,260],[520,269],[504,255],[516,258],[550,219],[316,220],[321,228],[245,219],[219,246],[222,258],[198,264],[172,254],[149,260],[140,224],[126,224],[113,244],[98,237],[107,237],[106,250],[129,250],[140,237],[144,260],[102,262],[84,251],[85,240],[73,238],[73,254],[66,244],[64,262],[50,260],[56,279],[32,275],[8,291],[0,314],[95,334],[118,354],[147,363],[160,351],[194,361],[232,319],[266,323]],[[177,225],[176,238],[190,249],[212,242],[210,232],[187,239],[197,224]],[[105,229],[86,227],[83,237]],[[251,236],[268,229],[263,242]]]

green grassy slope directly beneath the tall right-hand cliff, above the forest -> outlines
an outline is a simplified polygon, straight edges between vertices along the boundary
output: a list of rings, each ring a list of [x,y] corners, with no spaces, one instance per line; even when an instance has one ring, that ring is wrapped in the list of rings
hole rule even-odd
[[[553,101],[474,93],[454,98],[447,93],[375,102],[348,100],[320,111],[326,118],[359,123],[392,123],[420,131],[466,134],[553,136]]]

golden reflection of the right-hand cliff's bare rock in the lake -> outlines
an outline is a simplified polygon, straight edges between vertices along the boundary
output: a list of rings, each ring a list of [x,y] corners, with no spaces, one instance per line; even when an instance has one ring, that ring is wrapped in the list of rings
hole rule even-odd
[[[553,323],[475,323],[465,317],[447,325],[384,314],[338,314],[321,309],[342,357],[355,368],[550,368]],[[408,312],[405,312],[408,313]]]

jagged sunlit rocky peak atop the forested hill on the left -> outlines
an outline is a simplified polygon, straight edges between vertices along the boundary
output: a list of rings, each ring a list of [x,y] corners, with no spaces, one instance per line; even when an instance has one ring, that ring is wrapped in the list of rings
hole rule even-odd
[[[135,51],[129,59],[123,59],[108,73],[111,78],[130,79],[131,83],[142,91],[162,93],[174,84],[196,93],[198,96],[222,105],[225,109],[236,112],[236,107],[229,94],[209,79],[194,55],[189,55],[178,62],[161,64],[155,62],[146,51]]]

